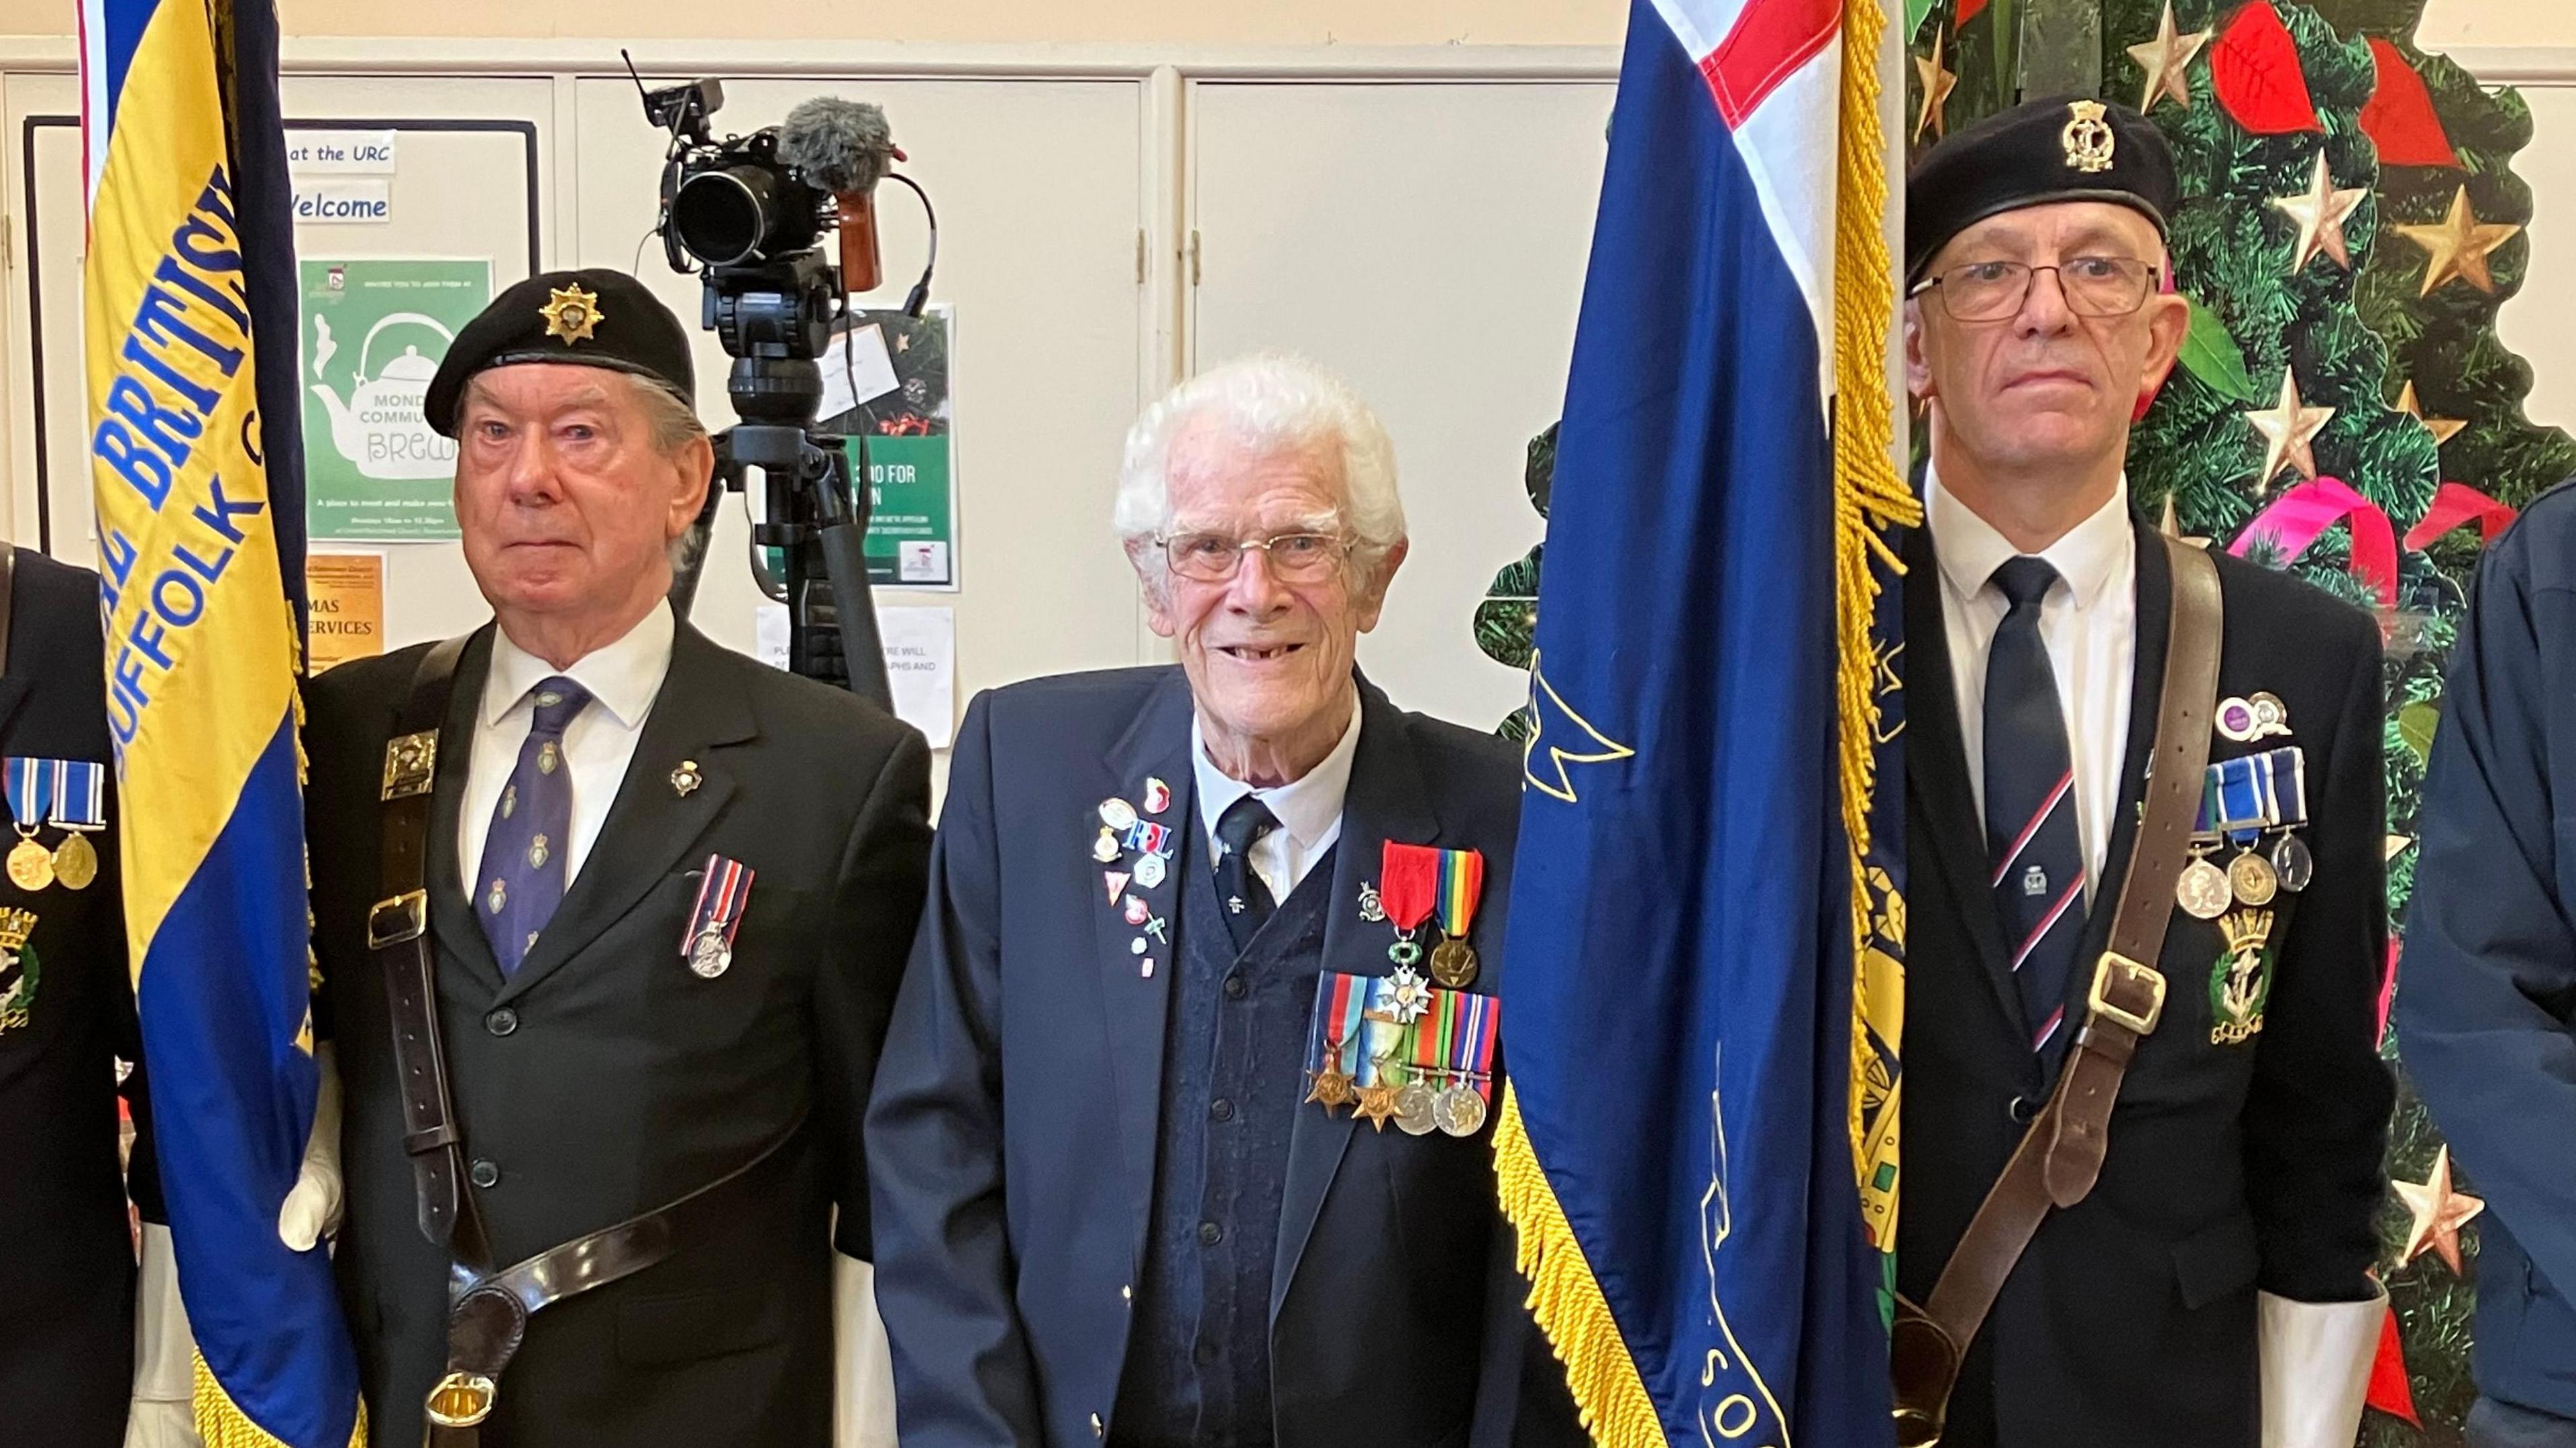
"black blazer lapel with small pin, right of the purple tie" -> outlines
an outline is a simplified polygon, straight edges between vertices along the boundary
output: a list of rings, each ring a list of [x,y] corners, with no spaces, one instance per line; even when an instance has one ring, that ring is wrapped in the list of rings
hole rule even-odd
[[[680,624],[670,644],[670,672],[654,696],[644,737],[636,739],[618,799],[600,822],[600,837],[497,1002],[533,989],[652,894],[734,796],[726,745],[752,739],[760,724],[742,691],[714,678],[721,665],[721,647]],[[698,763],[698,786],[688,794],[670,781],[680,760]],[[670,948],[680,948],[677,938]]]

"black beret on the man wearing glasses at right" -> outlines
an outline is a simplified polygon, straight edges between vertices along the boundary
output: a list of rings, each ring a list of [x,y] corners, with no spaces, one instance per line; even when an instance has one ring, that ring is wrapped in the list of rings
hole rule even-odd
[[[1942,139],[1906,175],[1906,286],[1986,216],[2056,201],[2128,206],[2161,237],[2182,201],[2164,131],[2128,106],[2056,95]]]

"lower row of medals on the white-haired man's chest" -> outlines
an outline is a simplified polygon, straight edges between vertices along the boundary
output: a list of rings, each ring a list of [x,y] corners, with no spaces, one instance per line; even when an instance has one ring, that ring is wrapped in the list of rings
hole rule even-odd
[[[1409,979],[1406,979],[1409,976]],[[1306,1036],[1306,1100],[1386,1131],[1473,1136],[1494,1105],[1502,1002],[1435,989],[1399,966],[1386,976],[1327,971]]]

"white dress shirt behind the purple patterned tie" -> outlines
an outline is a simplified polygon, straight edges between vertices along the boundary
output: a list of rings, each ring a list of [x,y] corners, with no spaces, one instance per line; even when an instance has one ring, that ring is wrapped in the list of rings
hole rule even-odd
[[[564,727],[564,763],[572,768],[572,840],[564,843],[564,889],[572,889],[590,858],[590,845],[600,837],[600,822],[626,783],[626,765],[636,757],[636,739],[644,734],[644,716],[652,714],[662,678],[670,672],[670,639],[675,634],[670,603],[657,603],[641,624],[605,649],[592,649],[559,670],[546,660],[520,649],[510,634],[492,629],[492,667],[484,672],[482,706],[474,711],[474,750],[466,760],[466,796],[456,814],[456,879],[466,881],[466,897],[477,894],[482,873],[482,845],[492,832],[492,809],[500,791],[518,768],[518,747],[528,742],[536,724],[536,701],[528,693],[564,675],[590,691],[590,703]]]

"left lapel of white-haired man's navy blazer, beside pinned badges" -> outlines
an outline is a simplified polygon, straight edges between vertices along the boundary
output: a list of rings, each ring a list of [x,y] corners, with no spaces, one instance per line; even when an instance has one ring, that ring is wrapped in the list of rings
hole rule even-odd
[[[1100,958],[1100,1007],[1108,1036],[1110,1095],[1118,1110],[1118,1139],[1126,1147],[1128,1208],[1136,1232],[1146,1229],[1154,1211],[1154,1149],[1162,1129],[1162,1064],[1164,1015],[1172,1002],[1172,976],[1180,974],[1180,891],[1188,886],[1190,855],[1200,850],[1198,827],[1198,770],[1190,768],[1190,680],[1172,670],[1162,688],[1136,711],[1128,732],[1103,755],[1110,788],[1118,799],[1136,804],[1144,783],[1159,778],[1172,788],[1172,804],[1151,819],[1172,832],[1172,853],[1164,861],[1164,879],[1157,886],[1133,881],[1136,855],[1121,850],[1118,863],[1097,863],[1084,871],[1084,907],[1092,915],[1092,940]],[[1082,804],[1079,819],[1066,819],[1066,848],[1090,850],[1100,837],[1103,819],[1095,801]],[[1108,894],[1108,873],[1131,876],[1118,899]],[[1133,943],[1144,935],[1126,922],[1123,899],[1133,894],[1167,922],[1167,940],[1146,938],[1146,953]],[[1154,961],[1154,974],[1144,974],[1144,961]]]

